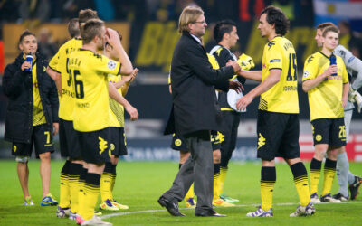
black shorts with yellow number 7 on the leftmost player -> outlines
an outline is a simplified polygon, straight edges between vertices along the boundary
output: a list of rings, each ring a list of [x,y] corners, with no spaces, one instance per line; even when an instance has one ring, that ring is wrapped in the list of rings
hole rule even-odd
[[[30,144],[14,142],[12,147],[12,155],[31,156],[33,152],[33,146],[35,147],[35,155],[37,158],[39,158],[40,154],[54,152],[51,126],[43,124],[33,127]]]

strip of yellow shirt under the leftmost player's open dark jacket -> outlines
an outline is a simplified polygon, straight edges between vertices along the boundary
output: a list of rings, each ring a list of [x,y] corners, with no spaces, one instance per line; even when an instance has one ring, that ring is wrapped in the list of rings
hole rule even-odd
[[[40,98],[40,93],[39,93],[38,80],[36,78],[35,58],[33,60],[32,77],[33,77],[33,127],[34,127],[46,123],[42,99]]]

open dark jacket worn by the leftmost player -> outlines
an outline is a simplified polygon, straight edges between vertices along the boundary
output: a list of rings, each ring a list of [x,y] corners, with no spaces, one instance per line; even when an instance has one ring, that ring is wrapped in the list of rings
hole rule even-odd
[[[33,76],[31,71],[22,71],[24,62],[21,53],[5,68],[3,78],[4,93],[8,98],[5,119],[5,140],[30,143],[33,132]],[[58,122],[59,100],[54,81],[45,69],[48,62],[39,54],[34,62],[40,98],[47,124],[52,127]]]

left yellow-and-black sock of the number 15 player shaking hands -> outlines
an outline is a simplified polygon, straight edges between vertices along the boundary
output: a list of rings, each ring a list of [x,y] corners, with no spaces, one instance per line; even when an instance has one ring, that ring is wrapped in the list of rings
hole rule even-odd
[[[261,195],[263,211],[269,211],[272,207],[272,193],[274,192],[275,180],[275,167],[262,166]]]

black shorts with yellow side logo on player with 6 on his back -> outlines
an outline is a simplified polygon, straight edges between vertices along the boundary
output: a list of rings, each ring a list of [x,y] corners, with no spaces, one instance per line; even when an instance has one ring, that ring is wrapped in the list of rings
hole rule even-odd
[[[81,144],[81,158],[89,164],[110,162],[110,129],[109,127],[91,131],[77,131]]]

